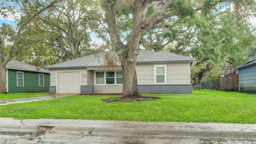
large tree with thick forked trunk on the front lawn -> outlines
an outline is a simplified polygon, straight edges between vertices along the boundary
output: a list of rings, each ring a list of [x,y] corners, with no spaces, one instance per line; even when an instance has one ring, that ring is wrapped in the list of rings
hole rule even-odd
[[[209,11],[217,7],[221,0],[183,1],[183,0],[105,0],[105,20],[108,25],[110,43],[121,59],[123,70],[123,94],[121,98],[107,101],[146,100],[139,93],[135,70],[140,42],[143,36],[166,21],[183,17],[192,18],[193,13]],[[237,2],[237,1],[234,1]]]

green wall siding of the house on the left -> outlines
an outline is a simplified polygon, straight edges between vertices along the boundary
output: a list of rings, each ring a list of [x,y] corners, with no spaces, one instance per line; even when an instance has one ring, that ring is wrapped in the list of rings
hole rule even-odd
[[[23,86],[17,86],[17,71],[23,72]],[[39,86],[38,74],[44,74],[44,86]],[[50,74],[8,69],[8,92],[49,92]]]

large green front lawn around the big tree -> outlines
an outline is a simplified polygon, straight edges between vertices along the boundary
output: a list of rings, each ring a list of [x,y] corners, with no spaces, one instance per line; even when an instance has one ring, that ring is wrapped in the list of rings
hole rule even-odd
[[[77,95],[1,106],[0,117],[256,124],[256,95],[212,90],[144,95],[162,99],[105,103],[101,99],[113,96]]]

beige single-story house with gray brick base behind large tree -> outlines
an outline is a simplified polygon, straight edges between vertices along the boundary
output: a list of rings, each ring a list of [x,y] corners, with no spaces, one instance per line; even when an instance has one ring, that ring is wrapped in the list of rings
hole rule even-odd
[[[122,93],[122,68],[103,67],[100,52],[44,67],[50,70],[50,93]],[[115,57],[115,56],[113,56]],[[165,51],[140,50],[136,70],[140,93],[190,94],[190,70],[196,59]]]

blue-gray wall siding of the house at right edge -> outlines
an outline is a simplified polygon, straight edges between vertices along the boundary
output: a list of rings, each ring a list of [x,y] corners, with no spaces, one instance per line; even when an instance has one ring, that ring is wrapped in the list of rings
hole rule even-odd
[[[256,92],[256,63],[238,69],[239,87],[245,92]]]

